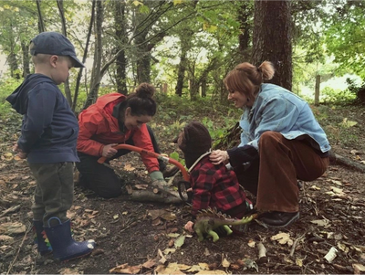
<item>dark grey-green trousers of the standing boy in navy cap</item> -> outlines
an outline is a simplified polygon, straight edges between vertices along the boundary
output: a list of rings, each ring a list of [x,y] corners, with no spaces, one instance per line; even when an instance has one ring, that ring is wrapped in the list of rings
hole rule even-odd
[[[43,220],[44,227],[54,226],[48,225],[50,217],[67,221],[74,196],[73,163],[29,164],[29,168],[36,178],[34,220]]]

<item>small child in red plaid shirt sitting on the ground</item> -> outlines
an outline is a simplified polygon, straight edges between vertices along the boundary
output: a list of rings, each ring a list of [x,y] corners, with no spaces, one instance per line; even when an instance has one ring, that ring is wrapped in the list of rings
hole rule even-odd
[[[235,172],[224,164],[214,165],[209,160],[212,138],[202,123],[190,122],[185,126],[177,143],[190,173],[193,217],[208,207],[236,218],[242,218],[252,210],[252,203],[246,199]],[[189,221],[185,229],[193,232],[193,222]]]

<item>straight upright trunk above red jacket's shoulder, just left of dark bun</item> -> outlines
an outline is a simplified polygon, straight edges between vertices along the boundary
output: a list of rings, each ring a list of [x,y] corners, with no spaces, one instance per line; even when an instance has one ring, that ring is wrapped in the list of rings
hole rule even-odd
[[[128,37],[126,33],[127,29],[127,18],[125,16],[125,1],[114,0],[115,14],[114,14],[114,25],[115,25],[115,37],[117,38],[117,51],[120,51],[116,60],[117,66],[117,90],[119,93],[127,94],[127,58],[125,50],[123,49],[128,43]]]

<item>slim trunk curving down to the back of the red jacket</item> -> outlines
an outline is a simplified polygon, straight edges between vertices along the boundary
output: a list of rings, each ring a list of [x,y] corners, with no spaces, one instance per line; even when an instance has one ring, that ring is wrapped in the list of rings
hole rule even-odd
[[[87,100],[85,101],[84,108],[87,109],[89,105],[95,103],[98,99],[98,91],[100,86],[101,74],[101,56],[102,56],[102,22],[103,22],[103,5],[102,0],[97,0],[96,3],[96,42],[95,42],[95,56],[94,66],[91,73],[92,79],[90,83],[90,92]]]

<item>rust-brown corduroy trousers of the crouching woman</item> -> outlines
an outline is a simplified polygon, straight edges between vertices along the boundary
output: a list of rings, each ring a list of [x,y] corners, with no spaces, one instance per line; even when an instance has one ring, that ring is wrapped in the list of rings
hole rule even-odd
[[[251,173],[247,171],[238,175],[240,184],[245,187],[247,176],[257,181],[257,176],[250,174],[258,171],[256,208],[260,211],[297,212],[297,179],[313,181],[323,175],[328,168],[328,157],[320,157],[307,143],[287,140],[279,132],[264,132],[258,147],[258,169],[252,167]]]

